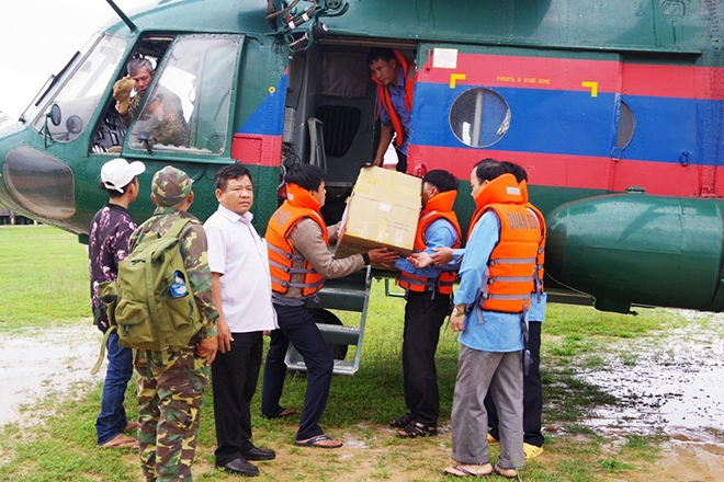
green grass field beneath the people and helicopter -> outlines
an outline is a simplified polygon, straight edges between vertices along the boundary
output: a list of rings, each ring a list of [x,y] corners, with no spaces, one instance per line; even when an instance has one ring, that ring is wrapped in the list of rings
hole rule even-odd
[[[87,277],[86,251],[75,237],[54,228],[0,228],[0,333],[26,335],[52,324],[92,330]],[[293,447],[298,415],[290,421],[261,418],[258,390],[252,406],[254,441],[279,454],[278,460],[260,463],[260,481],[443,480],[440,471],[451,461],[449,417],[457,343],[450,330],[443,331],[438,351],[441,436],[397,439],[386,422],[405,412],[403,307],[404,300],[385,297],[382,282],[375,283],[361,370],[353,377],[335,377],[321,421],[326,432],[346,441],[341,450]],[[649,336],[681,323],[670,311],[641,311],[634,319],[590,308],[550,307],[543,325],[543,422],[555,435],[547,436],[544,455],[530,461],[524,480],[634,480],[632,474],[640,471],[655,478],[660,439],[629,436],[611,443],[581,424],[597,405],[618,401],[577,375],[582,366],[604,369],[599,354],[621,337]],[[301,412],[304,389],[304,377],[290,376],[282,403]],[[99,405],[100,383],[81,383],[33,408],[26,416],[38,420],[36,425],[5,426],[0,437],[0,480],[142,480],[136,455],[95,447],[93,423]],[[133,383],[126,405],[129,416],[135,415]],[[211,390],[206,390],[194,478],[234,480],[214,469],[214,445]]]

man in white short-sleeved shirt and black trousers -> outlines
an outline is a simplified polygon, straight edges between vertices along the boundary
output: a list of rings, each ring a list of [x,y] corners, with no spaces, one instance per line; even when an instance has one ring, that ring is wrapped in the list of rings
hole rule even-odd
[[[276,326],[271,302],[267,244],[251,226],[249,171],[226,165],[214,177],[219,206],[204,229],[208,238],[212,292],[218,308],[218,355],[212,364],[216,467],[254,477],[249,460],[271,460],[273,450],[251,443],[249,402],[257,390],[263,334]]]

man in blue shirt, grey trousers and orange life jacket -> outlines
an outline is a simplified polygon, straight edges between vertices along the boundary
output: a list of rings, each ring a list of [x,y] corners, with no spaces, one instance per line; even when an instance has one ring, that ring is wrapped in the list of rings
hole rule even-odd
[[[513,478],[524,467],[524,318],[543,230],[534,211],[523,205],[516,177],[499,162],[478,162],[471,173],[471,188],[477,210],[450,319],[451,329],[461,332],[452,411],[452,457],[459,464],[445,473],[485,477],[495,471]],[[488,392],[500,415],[500,456],[495,466],[486,437]]]

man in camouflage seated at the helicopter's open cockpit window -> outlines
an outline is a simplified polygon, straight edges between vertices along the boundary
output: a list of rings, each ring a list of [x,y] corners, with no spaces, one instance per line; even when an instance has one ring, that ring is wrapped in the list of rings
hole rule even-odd
[[[115,110],[126,127],[131,126],[136,116],[155,74],[151,62],[145,58],[131,60],[127,69],[128,77],[124,77],[113,85]],[[131,99],[131,91],[134,88],[136,95]],[[155,144],[188,146],[189,125],[183,117],[183,106],[179,96],[163,85],[157,84],[154,97],[146,104],[134,131],[137,133],[139,129],[150,131]]]

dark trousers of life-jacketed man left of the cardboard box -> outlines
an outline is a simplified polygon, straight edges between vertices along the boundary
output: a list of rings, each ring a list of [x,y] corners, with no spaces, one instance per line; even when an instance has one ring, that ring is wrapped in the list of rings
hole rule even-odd
[[[284,355],[291,342],[307,366],[307,391],[299,429],[296,433],[297,440],[306,440],[324,434],[318,423],[327,406],[335,360],[314,322],[312,311],[305,307],[281,305],[274,305],[274,310],[280,329],[271,332],[261,388],[261,413],[273,418],[283,410],[279,401],[286,375]]]

